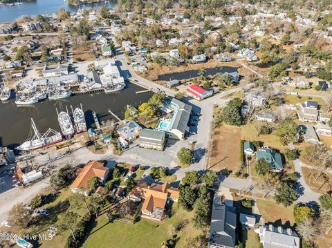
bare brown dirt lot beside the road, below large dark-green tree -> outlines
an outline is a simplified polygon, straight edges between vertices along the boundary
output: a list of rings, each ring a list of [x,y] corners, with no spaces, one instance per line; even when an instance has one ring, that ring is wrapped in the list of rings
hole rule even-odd
[[[241,146],[241,128],[218,126],[212,134],[212,151],[210,166],[219,171],[228,169],[239,170]]]

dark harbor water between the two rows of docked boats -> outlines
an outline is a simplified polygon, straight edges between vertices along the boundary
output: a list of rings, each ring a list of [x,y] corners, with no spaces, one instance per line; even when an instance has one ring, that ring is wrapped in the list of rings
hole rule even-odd
[[[91,111],[97,113],[100,121],[112,118],[108,109],[122,118],[127,104],[139,106],[142,102],[147,102],[152,95],[152,93],[136,94],[137,90],[142,90],[142,88],[129,84],[127,88],[118,93],[75,95],[58,101],[46,99],[33,106],[17,106],[14,99],[10,99],[6,103],[0,102],[0,146],[13,148],[25,142],[30,133],[31,117],[41,133],[48,128],[60,131],[55,108],[59,111],[66,111],[66,106],[68,106],[68,111],[71,113],[71,105],[75,108],[82,103],[88,128],[93,124]]]

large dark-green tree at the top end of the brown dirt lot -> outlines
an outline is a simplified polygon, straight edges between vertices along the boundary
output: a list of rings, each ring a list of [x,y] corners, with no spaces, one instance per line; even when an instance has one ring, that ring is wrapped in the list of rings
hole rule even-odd
[[[234,98],[221,111],[221,115],[217,117],[216,122],[225,122],[232,126],[241,126],[243,118],[241,115],[242,101]]]

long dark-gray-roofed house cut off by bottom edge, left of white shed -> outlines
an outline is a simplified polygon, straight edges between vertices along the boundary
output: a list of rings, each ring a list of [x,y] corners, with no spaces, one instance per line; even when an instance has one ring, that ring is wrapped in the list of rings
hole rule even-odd
[[[234,248],[237,242],[237,214],[215,195],[212,204],[209,248]]]

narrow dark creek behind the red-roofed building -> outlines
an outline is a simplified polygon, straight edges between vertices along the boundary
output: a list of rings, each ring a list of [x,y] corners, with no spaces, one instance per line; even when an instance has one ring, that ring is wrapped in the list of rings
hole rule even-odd
[[[222,67],[222,68],[208,68],[205,70],[205,76],[208,75],[215,75],[216,73],[233,73],[234,71],[237,71],[237,68],[234,67]],[[169,81],[172,79],[177,79],[177,80],[183,80],[183,79],[192,79],[194,77],[199,77],[199,70],[187,70],[183,71],[181,73],[169,73],[169,74],[164,74],[160,75],[158,77],[158,80],[161,81]]]

